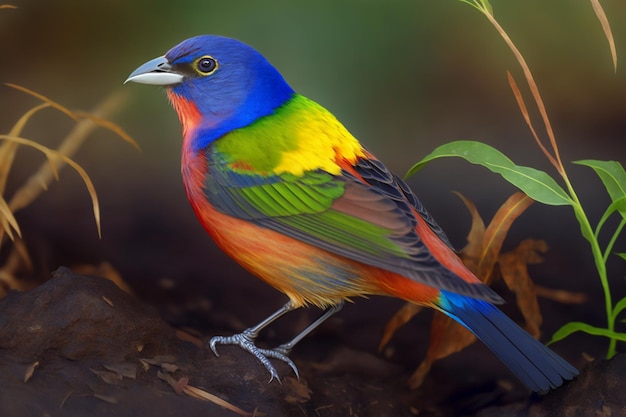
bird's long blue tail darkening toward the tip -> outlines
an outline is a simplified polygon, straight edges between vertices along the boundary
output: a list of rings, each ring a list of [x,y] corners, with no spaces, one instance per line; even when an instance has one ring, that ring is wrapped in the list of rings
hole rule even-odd
[[[486,301],[442,290],[438,306],[474,333],[533,391],[548,391],[578,375],[576,368]]]

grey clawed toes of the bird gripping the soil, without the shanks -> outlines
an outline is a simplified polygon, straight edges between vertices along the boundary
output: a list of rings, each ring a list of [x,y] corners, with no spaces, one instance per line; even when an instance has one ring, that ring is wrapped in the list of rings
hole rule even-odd
[[[276,368],[274,368],[274,365],[272,365],[272,363],[270,362],[270,358],[279,359],[285,362],[291,367],[291,369],[293,369],[296,377],[300,379],[300,374],[298,373],[298,368],[296,367],[296,364],[293,363],[293,361],[287,356],[289,353],[289,348],[287,346],[281,345],[275,349],[261,349],[254,344],[256,334],[249,330],[250,329],[244,330],[243,333],[239,333],[233,336],[215,336],[211,338],[209,346],[211,347],[213,353],[215,353],[215,356],[219,356],[216,348],[217,344],[237,345],[243,350],[247,350],[252,355],[254,355],[254,357],[257,358],[259,362],[261,362],[263,366],[265,366],[265,369],[267,369],[267,371],[270,373],[269,382],[272,382],[273,379],[276,379],[278,382],[280,382],[278,372],[276,371]]]

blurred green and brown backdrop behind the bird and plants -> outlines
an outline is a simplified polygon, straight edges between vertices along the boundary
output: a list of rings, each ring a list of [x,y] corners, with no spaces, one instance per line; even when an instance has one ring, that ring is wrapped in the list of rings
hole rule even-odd
[[[519,164],[553,172],[508,86],[506,70],[524,84],[512,54],[481,14],[456,0],[12,4],[17,9],[0,10],[0,81],[85,110],[123,89],[128,101],[113,120],[142,148],[138,153],[98,131],[76,157],[99,191],[102,240],[84,186],[70,171],[20,213],[44,270],[106,259],[129,280],[154,275],[197,280],[207,269],[217,280],[227,280],[239,272],[204,235],[188,207],[179,174],[180,126],[165,95],[154,87],[122,86],[143,62],[203,33],[236,37],[256,47],[298,92],[334,112],[397,173],[457,139],[487,142]],[[625,71],[618,66],[613,73],[590,2],[494,0],[493,6],[534,71],[563,159],[625,162]],[[603,6],[621,60],[626,57],[626,2],[607,0]],[[5,86],[0,91],[0,126],[6,132],[36,101]],[[64,116],[47,110],[25,134],[54,145],[71,126]],[[41,158],[24,151],[19,161],[13,186]],[[601,183],[587,168],[568,167],[597,219],[608,203]],[[486,218],[514,191],[501,178],[461,160],[435,162],[410,184],[457,247],[465,243],[470,218],[451,190],[475,201]],[[533,269],[538,280],[600,294],[587,244],[568,208],[533,205],[514,225],[507,248],[527,237],[545,239],[551,246],[547,266]],[[622,277],[614,273],[620,284]],[[265,291],[251,281],[242,284],[242,291]],[[563,313],[567,319],[581,318],[573,307],[563,308],[569,308]],[[597,317],[586,319],[601,323],[602,309],[596,310],[585,314]]]

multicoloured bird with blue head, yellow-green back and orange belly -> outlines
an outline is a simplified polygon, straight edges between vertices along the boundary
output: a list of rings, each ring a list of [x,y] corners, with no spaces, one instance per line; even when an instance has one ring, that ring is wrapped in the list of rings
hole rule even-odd
[[[507,317],[503,299],[457,256],[417,196],[326,108],[298,94],[256,49],[200,35],[147,61],[125,81],[163,86],[182,125],[188,199],[218,247],[288,302],[259,324],[214,336],[238,345],[280,381],[271,359],[346,301],[396,297],[451,317],[530,390],[561,386],[578,370]],[[275,348],[263,329],[304,306],[323,314]]]

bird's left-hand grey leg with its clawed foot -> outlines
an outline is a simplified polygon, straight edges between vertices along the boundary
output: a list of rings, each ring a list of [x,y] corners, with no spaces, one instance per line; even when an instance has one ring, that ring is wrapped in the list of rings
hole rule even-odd
[[[219,356],[216,348],[216,345],[218,343],[221,345],[238,345],[242,349],[247,350],[252,355],[254,355],[254,357],[256,357],[259,362],[263,364],[263,366],[265,366],[265,369],[267,369],[267,371],[270,373],[270,382],[272,382],[272,379],[274,378],[276,378],[280,382],[280,378],[278,376],[278,372],[269,361],[268,357],[280,359],[281,361],[287,363],[287,365],[289,365],[291,369],[293,369],[293,372],[296,374],[296,376],[300,378],[298,374],[298,368],[296,368],[296,364],[294,364],[293,361],[289,359],[286,354],[271,349],[260,349],[254,344],[254,340],[259,335],[259,332],[261,330],[270,325],[272,322],[276,321],[278,318],[295,309],[296,307],[290,301],[254,327],[250,327],[249,329],[246,329],[243,332],[235,334],[233,336],[215,336],[211,338],[209,346],[211,347],[213,353],[215,353],[215,356]]]

